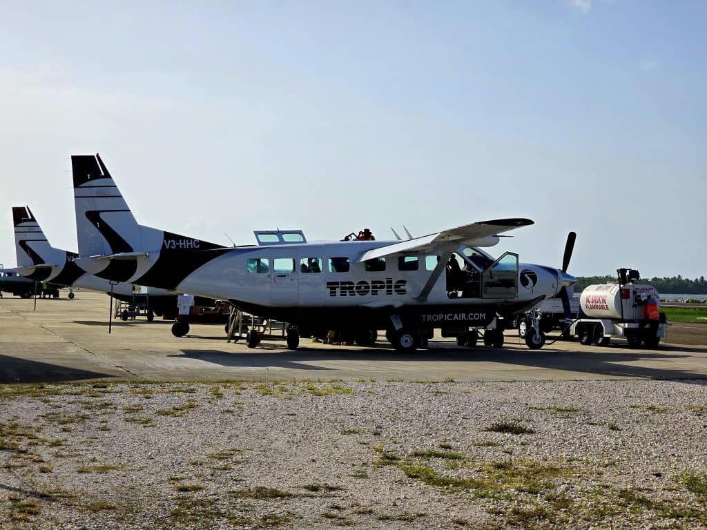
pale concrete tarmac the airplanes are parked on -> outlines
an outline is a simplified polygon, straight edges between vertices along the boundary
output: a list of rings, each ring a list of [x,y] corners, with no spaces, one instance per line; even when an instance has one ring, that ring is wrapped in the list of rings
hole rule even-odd
[[[358,348],[302,339],[298,351],[289,351],[284,341],[266,339],[250,349],[243,341],[226,343],[222,325],[192,324],[189,336],[176,338],[172,322],[114,320],[108,334],[109,302],[106,295],[88,292],[68,300],[62,290],[58,300],[37,300],[34,311],[34,300],[0,298],[0,383],[707,379],[707,346],[668,342],[650,351],[629,349],[623,341],[606,348],[558,341],[531,351],[509,330],[501,349],[457,348],[455,341],[443,338],[414,354],[397,353],[385,341]]]

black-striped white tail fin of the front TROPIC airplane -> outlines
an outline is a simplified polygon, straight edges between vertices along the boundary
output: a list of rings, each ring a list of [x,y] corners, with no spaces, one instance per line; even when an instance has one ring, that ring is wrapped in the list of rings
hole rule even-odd
[[[78,253],[81,256],[146,250],[135,220],[100,155],[71,157]]]

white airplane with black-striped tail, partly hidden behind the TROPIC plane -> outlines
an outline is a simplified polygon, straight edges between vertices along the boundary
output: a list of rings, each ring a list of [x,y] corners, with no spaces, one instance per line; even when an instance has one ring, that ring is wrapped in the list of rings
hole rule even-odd
[[[74,263],[78,254],[49,245],[47,236],[29,206],[13,206],[12,218],[15,226],[15,252],[18,265],[13,271],[20,276],[37,281],[78,287],[99,293],[111,292],[109,280],[88,274]],[[132,302],[134,293],[148,293],[148,320],[153,319],[153,314],[172,315],[177,312],[177,295],[168,290],[154,288],[146,290],[141,289],[139,285],[117,283],[112,285],[112,291],[115,298],[125,302]],[[69,298],[74,298],[73,291],[69,293]]]

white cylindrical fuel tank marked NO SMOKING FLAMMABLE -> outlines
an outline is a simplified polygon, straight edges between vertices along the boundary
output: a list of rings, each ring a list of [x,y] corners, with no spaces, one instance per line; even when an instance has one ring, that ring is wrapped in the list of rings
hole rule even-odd
[[[579,303],[582,312],[590,318],[621,319],[621,305],[624,307],[623,318],[640,320],[643,318],[643,308],[638,303],[640,296],[651,294],[660,305],[660,295],[652,285],[619,285],[603,283],[589,285],[580,295]]]

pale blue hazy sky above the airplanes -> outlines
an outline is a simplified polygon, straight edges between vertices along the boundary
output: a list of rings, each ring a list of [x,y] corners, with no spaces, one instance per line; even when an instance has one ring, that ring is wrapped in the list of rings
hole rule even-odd
[[[98,152],[139,223],[224,245],[526,217],[493,254],[707,275],[707,2],[0,4],[6,267],[13,205],[76,250]]]

